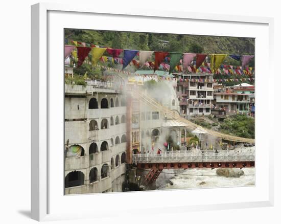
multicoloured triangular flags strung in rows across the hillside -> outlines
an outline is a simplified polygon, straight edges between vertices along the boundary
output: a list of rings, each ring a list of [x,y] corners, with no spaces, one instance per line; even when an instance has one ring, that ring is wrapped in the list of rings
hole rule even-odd
[[[91,55],[92,65],[96,65],[100,60],[102,62],[112,61],[113,63],[123,64],[122,70],[127,65],[133,64],[140,68],[147,66],[154,70],[169,71],[169,74],[175,72],[186,73],[213,73],[224,75],[253,75],[252,67],[246,67],[253,55],[227,55],[227,54],[194,54],[194,53],[171,53],[171,52],[153,52],[153,51],[138,51],[126,49],[112,49],[106,47],[96,46],[95,44],[88,44],[79,41],[72,41],[75,46],[65,45],[64,57],[71,54],[78,59],[78,66],[84,62],[87,56]],[[75,51],[75,48],[77,51]],[[111,57],[104,56],[107,52]],[[123,52],[123,58],[119,58]],[[154,53],[154,62],[149,61]],[[138,56],[139,60],[134,57]],[[209,56],[210,62],[206,62]],[[242,66],[222,65],[224,59],[229,56],[235,60],[241,61]],[[196,58],[196,59],[195,59]]]

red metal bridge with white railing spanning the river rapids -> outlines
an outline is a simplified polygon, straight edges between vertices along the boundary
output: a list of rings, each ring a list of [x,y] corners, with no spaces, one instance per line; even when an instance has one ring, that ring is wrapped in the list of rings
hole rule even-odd
[[[163,169],[254,167],[254,148],[233,150],[166,151],[162,154],[135,154],[133,164],[150,169],[145,184],[153,183]]]

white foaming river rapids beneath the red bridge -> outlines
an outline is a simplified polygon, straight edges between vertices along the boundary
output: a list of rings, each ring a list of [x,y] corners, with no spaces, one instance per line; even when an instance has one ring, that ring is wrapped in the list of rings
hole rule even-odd
[[[221,168],[226,169],[226,168]],[[240,168],[232,168],[234,172],[241,172]],[[156,188],[189,189],[189,188],[217,188],[254,186],[255,169],[243,168],[244,175],[240,177],[225,177],[217,175],[216,169],[164,169],[156,181]]]

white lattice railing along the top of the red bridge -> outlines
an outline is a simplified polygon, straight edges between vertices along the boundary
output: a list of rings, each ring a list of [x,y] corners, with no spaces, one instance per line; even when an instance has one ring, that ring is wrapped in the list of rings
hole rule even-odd
[[[135,154],[133,163],[188,163],[254,161],[254,151],[168,151],[162,154]]]

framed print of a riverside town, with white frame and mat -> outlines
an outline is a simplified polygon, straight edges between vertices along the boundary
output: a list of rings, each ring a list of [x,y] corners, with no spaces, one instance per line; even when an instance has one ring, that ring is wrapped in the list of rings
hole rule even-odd
[[[31,23],[32,218],[272,205],[271,18],[36,4]]]

